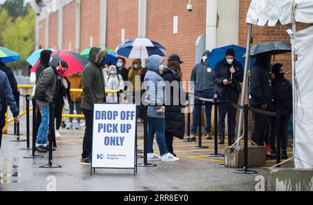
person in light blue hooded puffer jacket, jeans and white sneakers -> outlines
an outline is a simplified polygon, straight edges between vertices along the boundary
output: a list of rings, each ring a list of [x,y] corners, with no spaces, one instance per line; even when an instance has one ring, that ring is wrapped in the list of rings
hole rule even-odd
[[[165,82],[161,75],[164,72],[163,57],[151,55],[147,60],[147,74],[145,75],[145,103],[147,107],[147,159],[149,161],[179,161],[168,152],[165,132]],[[157,136],[160,155],[154,154],[153,140]]]

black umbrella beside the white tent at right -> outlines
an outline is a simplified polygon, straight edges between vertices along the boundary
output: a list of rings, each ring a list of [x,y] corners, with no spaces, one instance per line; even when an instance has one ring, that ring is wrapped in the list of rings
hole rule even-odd
[[[251,47],[250,55],[254,56],[260,53],[271,52],[271,55],[291,52],[291,44],[285,42],[265,42]],[[246,57],[244,55],[243,57]]]

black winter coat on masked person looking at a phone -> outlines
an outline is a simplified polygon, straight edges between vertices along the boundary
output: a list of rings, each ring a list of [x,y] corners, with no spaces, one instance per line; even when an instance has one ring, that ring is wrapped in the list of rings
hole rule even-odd
[[[236,73],[232,76],[230,73],[230,68],[234,66]],[[241,93],[241,85],[240,82],[243,82],[243,67],[240,62],[234,60],[232,65],[228,64],[227,61],[224,59],[218,64],[216,64],[214,73],[213,73],[213,80],[215,82],[215,92],[218,96],[224,96],[225,93],[229,94],[232,92],[226,92],[229,89],[232,89],[238,93]],[[231,79],[232,76],[232,84],[225,85],[223,81],[225,79]]]

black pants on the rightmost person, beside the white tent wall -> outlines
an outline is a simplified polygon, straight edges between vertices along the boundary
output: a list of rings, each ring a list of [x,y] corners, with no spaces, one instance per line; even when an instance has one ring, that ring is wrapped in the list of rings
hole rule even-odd
[[[280,117],[280,143],[281,143],[281,148],[282,150],[287,150],[287,143],[288,143],[288,134],[287,134],[287,129],[288,129],[288,123],[290,121],[290,116],[281,116]],[[271,148],[275,149],[276,148],[276,135],[278,134],[277,132],[277,127],[276,127],[276,121],[273,121],[273,126],[272,126],[273,132],[270,135],[269,142],[271,144]]]

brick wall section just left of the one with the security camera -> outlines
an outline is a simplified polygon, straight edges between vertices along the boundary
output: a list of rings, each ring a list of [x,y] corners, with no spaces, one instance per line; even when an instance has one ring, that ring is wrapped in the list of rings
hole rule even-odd
[[[138,0],[107,1],[107,48],[114,51],[122,43],[122,28],[125,40],[138,37]],[[131,66],[131,60],[127,60],[127,66]]]

